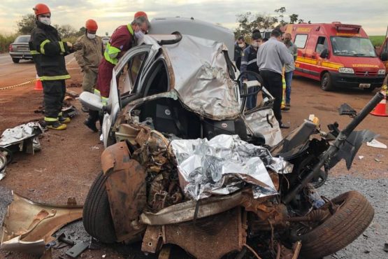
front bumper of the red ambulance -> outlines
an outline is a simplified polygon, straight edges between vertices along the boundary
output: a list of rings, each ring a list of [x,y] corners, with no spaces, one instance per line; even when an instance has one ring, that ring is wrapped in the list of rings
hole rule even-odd
[[[380,87],[382,85],[382,81],[384,80],[385,75],[381,76],[355,76],[352,74],[344,74],[344,73],[336,73],[331,72],[331,79],[333,81],[333,85],[338,87],[360,87],[360,84],[371,84],[370,87]],[[366,87],[366,88],[370,88]]]

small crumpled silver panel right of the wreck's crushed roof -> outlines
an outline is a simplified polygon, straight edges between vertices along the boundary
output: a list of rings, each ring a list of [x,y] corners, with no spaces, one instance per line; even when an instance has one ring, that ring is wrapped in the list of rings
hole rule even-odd
[[[283,139],[278,120],[273,115],[272,109],[253,111],[245,114],[245,124],[252,134],[256,132],[263,134],[266,139],[266,145],[268,146],[275,146]]]

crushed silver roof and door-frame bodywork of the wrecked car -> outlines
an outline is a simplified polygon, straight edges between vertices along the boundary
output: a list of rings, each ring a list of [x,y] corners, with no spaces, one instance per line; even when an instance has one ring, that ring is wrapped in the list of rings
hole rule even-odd
[[[161,43],[176,40],[178,37],[176,35],[145,35],[143,41],[131,48],[115,66],[113,80],[110,83],[108,104],[104,107],[106,111],[102,127],[104,146],[109,146],[109,139],[113,137],[112,132],[115,132],[120,126],[114,125],[118,113],[122,111],[127,113],[127,118],[131,117],[133,108],[123,109],[125,99],[132,100],[129,106],[134,107],[145,99],[178,98],[186,109],[204,118],[212,120],[243,118],[245,120],[244,114],[241,113],[238,84],[229,75],[230,71],[223,51],[225,50],[224,44],[189,35],[183,35],[178,43],[166,45]],[[144,55],[141,66],[138,66],[138,71],[136,70],[136,78],[131,79],[130,76],[134,73],[132,64],[139,55]],[[157,66],[158,64],[160,66]],[[120,79],[125,67],[127,67],[127,73],[124,73]],[[155,91],[149,88],[147,80],[158,68],[165,69],[168,82],[163,90]],[[83,92],[80,95],[82,104],[90,109],[101,107],[101,104],[90,104],[89,94]],[[87,99],[89,103],[85,101]],[[248,117],[252,120],[255,118],[252,113],[268,114],[264,121],[268,132],[262,132],[263,127],[255,126],[252,121],[249,123],[245,120],[245,124],[249,134],[260,130],[259,133],[264,134],[266,138],[266,144],[273,146],[278,144],[282,135],[272,110],[267,108],[258,107],[254,111],[249,111],[250,116]],[[267,123],[268,120],[271,120],[271,123]]]

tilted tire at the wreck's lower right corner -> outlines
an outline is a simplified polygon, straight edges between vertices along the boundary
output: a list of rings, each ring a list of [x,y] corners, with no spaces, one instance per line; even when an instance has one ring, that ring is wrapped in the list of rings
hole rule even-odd
[[[373,207],[357,191],[343,193],[331,202],[342,205],[322,224],[301,235],[292,231],[291,239],[302,243],[301,258],[323,258],[336,253],[357,239],[373,220]],[[329,202],[323,207],[326,206]]]

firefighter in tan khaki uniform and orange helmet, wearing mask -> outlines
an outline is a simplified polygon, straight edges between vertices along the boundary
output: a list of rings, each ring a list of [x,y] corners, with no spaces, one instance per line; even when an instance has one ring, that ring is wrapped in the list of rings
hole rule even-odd
[[[96,36],[99,27],[95,20],[87,20],[85,28],[85,34],[74,44],[74,48],[77,49],[75,57],[83,73],[82,90],[93,93],[103,55],[103,43],[102,39]],[[87,109],[82,107],[82,111],[87,112]]]

